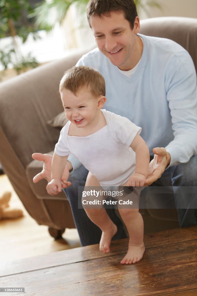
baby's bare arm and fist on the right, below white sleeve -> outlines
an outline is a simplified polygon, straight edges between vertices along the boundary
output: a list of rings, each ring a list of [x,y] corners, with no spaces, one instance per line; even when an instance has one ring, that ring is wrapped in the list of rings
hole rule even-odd
[[[143,186],[148,175],[149,149],[140,135],[136,135],[130,147],[135,152],[135,173],[130,176],[127,186]]]

